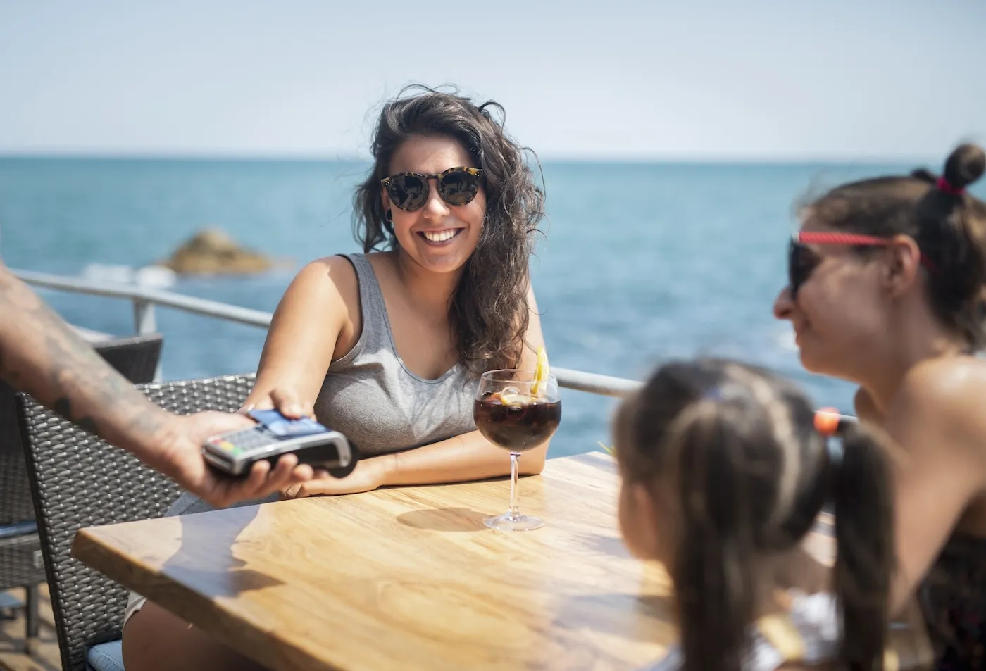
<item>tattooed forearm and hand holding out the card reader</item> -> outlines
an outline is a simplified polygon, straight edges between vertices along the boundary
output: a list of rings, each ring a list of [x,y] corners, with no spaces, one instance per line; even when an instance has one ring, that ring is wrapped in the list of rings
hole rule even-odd
[[[2,262],[0,378],[215,505],[261,498],[312,477],[293,455],[273,470],[257,463],[245,480],[217,477],[202,459],[202,442],[252,422],[228,413],[179,416],[147,400]]]

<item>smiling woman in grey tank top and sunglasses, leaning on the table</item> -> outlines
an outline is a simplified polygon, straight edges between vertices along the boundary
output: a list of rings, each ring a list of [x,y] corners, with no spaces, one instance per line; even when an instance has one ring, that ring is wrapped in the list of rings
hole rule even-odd
[[[374,168],[356,191],[365,253],[298,274],[246,400],[314,415],[365,457],[348,477],[317,473],[288,498],[510,473],[472,408],[482,372],[534,369],[544,344],[528,274],[543,197],[497,103],[415,93],[384,105]],[[522,472],[539,473],[546,451],[529,451]],[[185,496],[171,512],[204,509]],[[254,668],[138,595],[127,610],[128,671]]]

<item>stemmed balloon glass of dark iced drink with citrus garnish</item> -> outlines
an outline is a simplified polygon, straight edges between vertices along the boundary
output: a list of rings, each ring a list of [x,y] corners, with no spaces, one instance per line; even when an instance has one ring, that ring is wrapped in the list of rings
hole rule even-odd
[[[486,526],[502,531],[529,531],[544,525],[517,507],[518,459],[554,435],[561,422],[558,380],[533,370],[488,370],[479,379],[472,416],[476,429],[493,444],[510,451],[510,510],[486,517]]]

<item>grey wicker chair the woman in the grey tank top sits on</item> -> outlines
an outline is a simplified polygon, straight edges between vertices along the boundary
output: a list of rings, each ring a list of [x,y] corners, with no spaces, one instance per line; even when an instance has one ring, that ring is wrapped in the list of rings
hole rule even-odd
[[[234,412],[254,375],[142,384],[138,388],[179,414]],[[133,455],[60,419],[18,394],[55,630],[64,671],[85,668],[90,646],[120,637],[127,590],[72,559],[84,526],[158,517],[179,494],[175,483]]]

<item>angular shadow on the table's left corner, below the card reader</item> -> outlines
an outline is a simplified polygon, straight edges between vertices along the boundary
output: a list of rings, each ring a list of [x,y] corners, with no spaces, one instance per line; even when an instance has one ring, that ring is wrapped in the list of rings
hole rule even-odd
[[[246,505],[178,516],[181,545],[161,572],[211,597],[236,596],[281,584],[281,580],[265,573],[246,569],[246,563],[233,556],[237,539],[256,517],[259,507]]]

